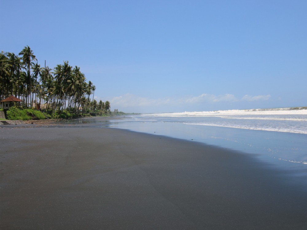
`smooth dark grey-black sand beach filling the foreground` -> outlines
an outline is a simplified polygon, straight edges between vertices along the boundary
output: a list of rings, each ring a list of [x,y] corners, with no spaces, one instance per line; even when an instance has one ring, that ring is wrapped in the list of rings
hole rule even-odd
[[[306,190],[251,155],[97,127],[0,128],[0,228],[306,229]]]

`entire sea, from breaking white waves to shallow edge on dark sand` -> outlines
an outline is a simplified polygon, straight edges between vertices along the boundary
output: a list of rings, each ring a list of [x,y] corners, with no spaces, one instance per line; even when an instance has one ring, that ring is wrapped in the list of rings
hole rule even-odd
[[[307,107],[142,114],[110,126],[253,154],[307,182]]]

